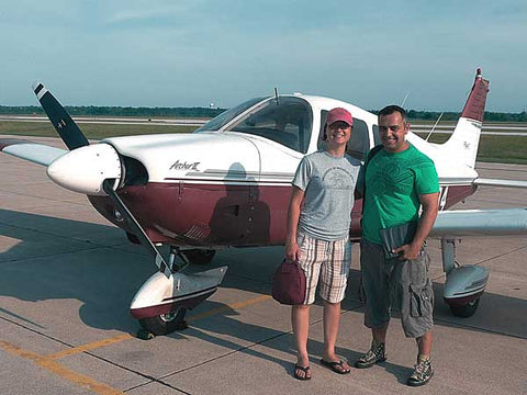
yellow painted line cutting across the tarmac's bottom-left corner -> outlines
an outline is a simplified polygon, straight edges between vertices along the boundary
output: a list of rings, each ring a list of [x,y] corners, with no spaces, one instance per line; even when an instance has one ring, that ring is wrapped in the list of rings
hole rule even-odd
[[[37,353],[23,350],[16,346],[10,345],[7,341],[0,340],[0,348],[7,352],[10,352],[16,357],[33,361],[41,368],[48,370],[49,372],[71,382],[81,387],[88,388],[99,395],[123,395],[122,391],[112,388],[103,383],[100,383],[89,376],[76,373],[69,369],[64,368],[60,363],[53,359],[38,356]]]

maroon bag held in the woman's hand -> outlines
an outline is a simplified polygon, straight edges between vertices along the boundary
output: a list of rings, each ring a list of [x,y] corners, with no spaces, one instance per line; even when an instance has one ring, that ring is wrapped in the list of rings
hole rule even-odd
[[[305,273],[299,261],[284,258],[272,278],[272,298],[281,304],[301,305],[305,301]]]

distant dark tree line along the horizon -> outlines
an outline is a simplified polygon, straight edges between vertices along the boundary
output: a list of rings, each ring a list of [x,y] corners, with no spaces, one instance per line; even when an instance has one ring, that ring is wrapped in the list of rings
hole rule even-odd
[[[71,115],[77,116],[141,116],[141,117],[204,117],[212,119],[226,109],[210,109],[210,108],[131,108],[131,106],[97,106],[97,105],[69,105],[66,110]],[[377,110],[370,110],[377,113]],[[44,115],[41,106],[22,105],[9,106],[0,105],[0,114],[4,115]],[[421,121],[436,121],[439,115],[438,111],[417,111],[408,110],[408,117],[411,120]],[[441,121],[457,121],[460,116],[459,112],[444,112]],[[527,122],[527,112],[520,113],[503,113],[485,111],[485,121],[492,122]]]

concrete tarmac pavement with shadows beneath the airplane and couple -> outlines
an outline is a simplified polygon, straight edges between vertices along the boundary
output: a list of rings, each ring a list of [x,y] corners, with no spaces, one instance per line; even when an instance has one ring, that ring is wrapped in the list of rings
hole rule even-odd
[[[485,178],[527,180],[527,166],[478,169]],[[227,264],[228,272],[188,314],[189,328],[145,341],[128,314],[155,271],[143,248],[86,196],[55,185],[44,167],[0,155],[0,394],[527,394],[526,237],[468,238],[458,247],[461,263],[491,269],[478,312],[464,319],[442,303],[439,242],[430,242],[435,376],[425,387],[405,385],[416,348],[396,317],[385,363],[348,375],[321,366],[321,303],[311,312],[313,379],[299,382],[291,375],[290,307],[269,295],[282,248],[218,251],[210,267]],[[500,206],[526,207],[527,191],[480,187],[458,208]],[[351,363],[370,341],[354,248],[337,342]]]

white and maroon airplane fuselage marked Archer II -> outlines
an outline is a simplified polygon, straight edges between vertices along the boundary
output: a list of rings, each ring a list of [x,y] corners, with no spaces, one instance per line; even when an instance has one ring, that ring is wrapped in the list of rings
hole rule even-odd
[[[134,163],[141,163],[133,170],[135,174],[131,174],[132,182],[125,179],[126,171],[123,172],[121,184],[124,182],[124,185],[117,193],[154,242],[210,248],[283,244],[291,180],[302,157],[319,147],[321,114],[335,106],[351,112],[354,134],[360,133],[361,142],[356,143],[358,149],[348,149],[348,153],[359,159],[375,145],[374,114],[332,99],[299,94],[289,99],[302,102],[312,117],[310,136],[303,136],[304,149],[277,142],[280,137],[272,140],[236,132],[236,127],[229,129],[228,124],[217,131],[208,131],[205,125],[193,134],[115,137],[100,143],[113,147],[125,160],[132,158]],[[264,102],[273,100],[269,98]],[[233,122],[250,117],[247,114],[251,112],[258,114],[261,106],[258,102]],[[277,124],[268,126],[280,132]],[[436,165],[441,210],[474,193],[476,187],[472,182],[478,177],[474,169],[417,135],[410,133],[407,139]],[[127,169],[128,162],[125,165]],[[97,195],[89,199],[102,215],[126,229],[110,199]],[[360,237],[361,205],[362,202],[357,201],[351,215],[354,240]]]

